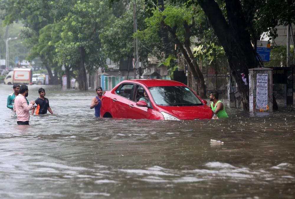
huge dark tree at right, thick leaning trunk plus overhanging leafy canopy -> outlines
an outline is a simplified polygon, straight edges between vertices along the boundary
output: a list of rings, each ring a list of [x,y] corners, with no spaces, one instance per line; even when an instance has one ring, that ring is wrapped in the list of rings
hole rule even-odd
[[[111,2],[113,0],[110,0]],[[155,8],[146,0],[149,8]],[[279,24],[294,23],[295,4],[292,0],[171,0],[173,3],[184,3],[188,7],[200,5],[227,56],[232,75],[241,92],[244,110],[249,109],[248,85],[242,75],[248,77],[248,69],[261,64],[251,40],[258,39],[262,32],[276,35],[274,28]]]

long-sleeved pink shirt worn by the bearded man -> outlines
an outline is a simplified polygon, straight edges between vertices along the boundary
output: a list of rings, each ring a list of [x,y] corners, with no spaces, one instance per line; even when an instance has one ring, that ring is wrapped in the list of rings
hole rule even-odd
[[[15,97],[13,110],[17,112],[17,121],[29,121],[29,111],[32,110],[32,108],[33,105],[31,103],[28,105],[27,100],[23,95],[19,94]]]

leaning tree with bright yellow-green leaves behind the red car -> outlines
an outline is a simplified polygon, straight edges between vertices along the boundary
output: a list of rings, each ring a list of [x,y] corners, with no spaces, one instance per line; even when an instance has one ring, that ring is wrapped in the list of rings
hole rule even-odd
[[[146,19],[148,28],[139,31],[135,36],[143,40],[147,40],[154,32],[158,32],[165,27],[172,35],[173,42],[176,43],[178,49],[186,59],[191,72],[200,85],[200,95],[202,98],[206,96],[206,87],[204,76],[199,68],[198,63],[191,50],[191,40],[193,39],[191,29],[195,26],[196,9],[193,6],[189,8],[168,5],[162,11],[153,9],[152,17]]]

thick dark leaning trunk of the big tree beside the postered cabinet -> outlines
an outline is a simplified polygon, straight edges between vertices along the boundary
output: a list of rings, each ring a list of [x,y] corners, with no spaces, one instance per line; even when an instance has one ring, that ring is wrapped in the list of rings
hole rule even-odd
[[[243,82],[241,74],[244,73],[248,79],[248,69],[255,67],[256,57],[240,1],[225,0],[228,23],[214,0],[198,0],[198,2],[224,48],[242,96],[243,108],[249,110],[249,87]]]

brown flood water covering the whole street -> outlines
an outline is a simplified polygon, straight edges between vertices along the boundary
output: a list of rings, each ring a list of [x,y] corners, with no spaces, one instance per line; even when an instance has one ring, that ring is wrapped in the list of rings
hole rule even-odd
[[[40,86],[29,86],[35,100]],[[95,91],[43,86],[54,115],[17,125],[0,84],[0,198],[295,198],[295,111],[97,119]],[[224,142],[211,145],[210,139]]]

